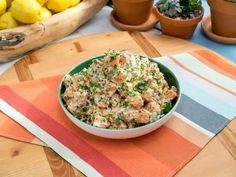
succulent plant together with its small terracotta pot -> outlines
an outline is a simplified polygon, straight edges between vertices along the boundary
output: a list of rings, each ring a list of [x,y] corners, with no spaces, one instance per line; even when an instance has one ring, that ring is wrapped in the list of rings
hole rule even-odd
[[[164,34],[188,39],[203,17],[201,0],[159,0],[158,18]]]

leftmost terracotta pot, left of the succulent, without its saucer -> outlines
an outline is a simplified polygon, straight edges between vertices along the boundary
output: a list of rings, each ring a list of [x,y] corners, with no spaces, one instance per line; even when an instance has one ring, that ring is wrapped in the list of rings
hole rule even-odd
[[[127,25],[140,25],[151,14],[153,0],[112,0],[117,18]]]

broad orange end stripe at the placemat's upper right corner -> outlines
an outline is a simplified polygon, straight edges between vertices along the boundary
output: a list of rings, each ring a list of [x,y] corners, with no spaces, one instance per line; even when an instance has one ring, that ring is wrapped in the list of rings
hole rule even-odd
[[[207,50],[197,50],[190,52],[196,59],[206,64],[208,67],[232,78],[236,79],[236,65],[226,59]]]

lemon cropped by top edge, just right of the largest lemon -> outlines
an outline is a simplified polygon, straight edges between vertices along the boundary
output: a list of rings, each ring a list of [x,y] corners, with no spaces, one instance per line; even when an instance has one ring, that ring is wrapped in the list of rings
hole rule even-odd
[[[71,2],[69,0],[49,0],[47,2],[47,8],[53,12],[61,12],[69,8]]]

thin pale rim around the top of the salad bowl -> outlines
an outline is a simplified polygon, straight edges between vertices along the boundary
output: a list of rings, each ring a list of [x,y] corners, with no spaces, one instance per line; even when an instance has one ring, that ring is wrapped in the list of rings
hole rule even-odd
[[[143,56],[143,55],[139,55],[139,54],[135,54],[135,55],[138,55],[138,56],[141,56],[141,57],[147,57],[147,56]],[[171,110],[165,114],[163,117],[161,117],[160,119],[154,121],[154,122],[150,122],[148,124],[145,124],[145,125],[142,125],[142,126],[139,126],[139,127],[134,127],[134,128],[128,128],[128,129],[107,129],[107,128],[101,128],[101,127],[95,127],[95,126],[92,126],[92,125],[89,125],[81,120],[79,120],[78,118],[76,118],[64,105],[63,103],[63,100],[62,100],[62,97],[61,97],[61,88],[63,86],[63,80],[64,78],[67,76],[67,75],[70,75],[69,73],[72,72],[73,70],[75,70],[78,66],[80,65],[83,65],[84,63],[87,63],[88,61],[91,61],[91,60],[94,60],[94,59],[97,59],[97,58],[102,58],[104,57],[105,55],[96,55],[96,56],[93,56],[93,57],[90,57],[82,62],[80,62],[79,64],[75,65],[74,67],[72,67],[63,77],[62,79],[60,80],[60,84],[59,84],[59,87],[58,87],[58,100],[59,100],[59,103],[60,103],[60,106],[62,107],[62,109],[67,113],[66,116],[69,117],[69,119],[73,118],[74,121],[84,125],[84,126],[87,126],[88,128],[90,129],[93,129],[95,131],[103,131],[103,132],[132,132],[132,131],[137,131],[137,130],[141,130],[141,129],[144,129],[144,128],[148,128],[148,127],[151,127],[155,124],[158,124],[159,122],[162,122],[163,120],[165,120],[166,118],[170,117],[170,115],[172,114],[172,112],[174,112],[180,102],[180,99],[181,99],[181,95],[182,95],[182,92],[181,92],[181,88],[180,88],[180,83],[179,83],[179,80],[178,78],[176,77],[176,75],[174,74],[174,72],[169,69],[169,67],[165,66],[164,64],[158,62],[156,59],[154,58],[150,58],[150,57],[147,57],[149,59],[149,61],[151,62],[154,62],[154,63],[157,63],[158,65],[161,65],[161,67],[164,67],[165,69],[168,70],[168,72],[170,72],[170,74],[174,77],[175,81],[176,81],[176,85],[178,87],[178,97],[177,97],[177,100],[175,102],[175,105],[171,108]],[[68,116],[70,115],[70,116]],[[72,121],[72,120],[71,120]],[[72,121],[74,124],[75,122]],[[78,125],[76,125],[78,126]],[[81,128],[81,127],[79,127]]]

